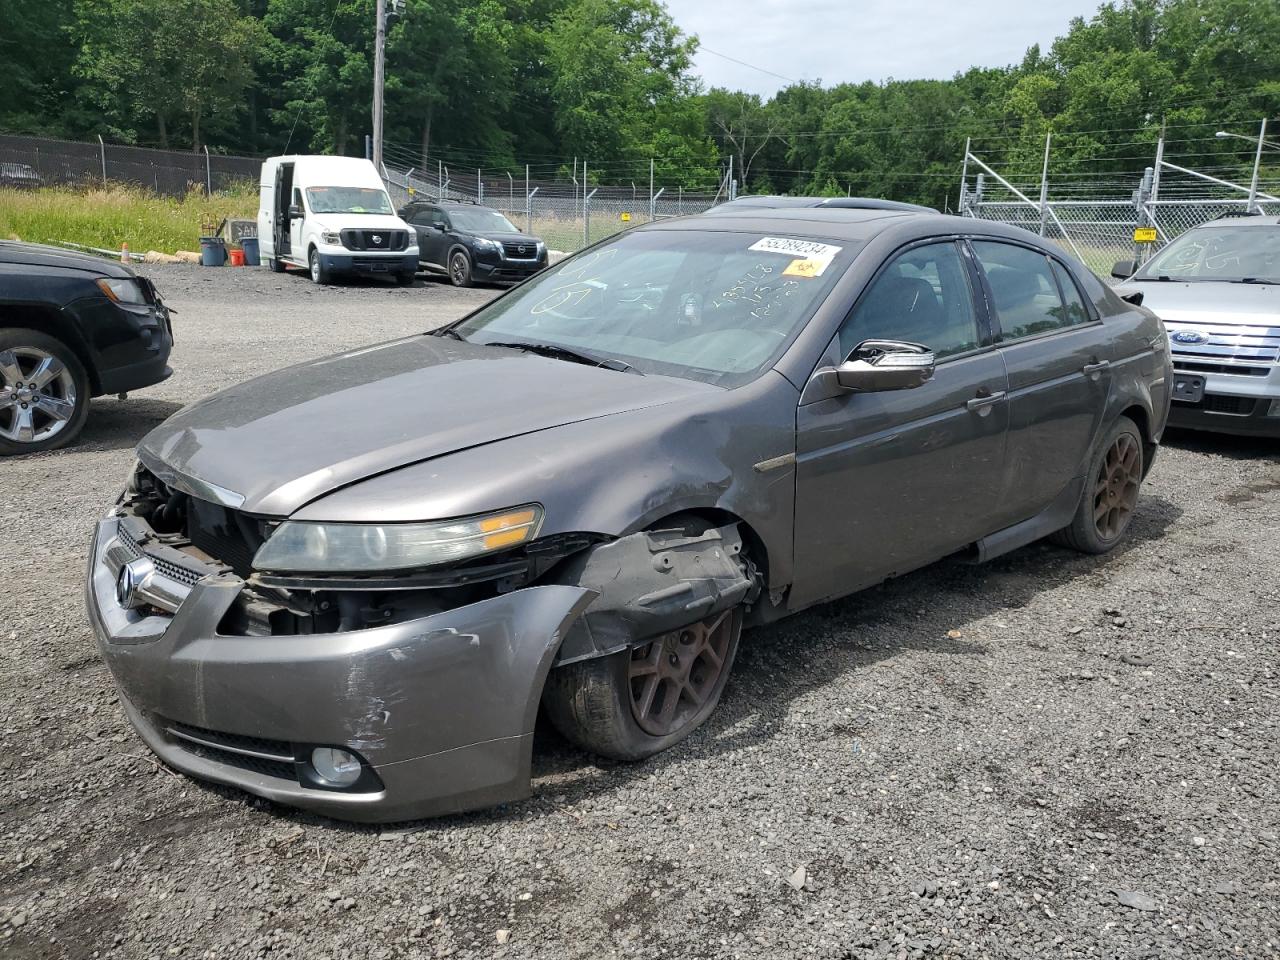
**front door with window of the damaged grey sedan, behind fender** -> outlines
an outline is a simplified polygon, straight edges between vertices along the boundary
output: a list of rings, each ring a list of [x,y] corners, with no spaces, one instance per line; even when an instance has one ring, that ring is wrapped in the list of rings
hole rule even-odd
[[[1007,380],[980,317],[954,241],[895,255],[859,297],[833,358],[865,339],[908,340],[931,347],[937,369],[915,389],[801,403],[794,608],[905,573],[992,532]]]

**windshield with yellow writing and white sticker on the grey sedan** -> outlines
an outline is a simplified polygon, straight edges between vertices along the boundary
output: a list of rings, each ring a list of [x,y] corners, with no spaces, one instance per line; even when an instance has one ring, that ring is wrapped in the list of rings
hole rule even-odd
[[[772,366],[859,246],[713,230],[623,233],[538,274],[452,332],[733,387]]]

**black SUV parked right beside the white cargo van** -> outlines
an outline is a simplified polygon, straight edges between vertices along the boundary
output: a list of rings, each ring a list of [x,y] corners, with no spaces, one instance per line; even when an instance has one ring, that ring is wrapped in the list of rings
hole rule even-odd
[[[547,244],[521,233],[493,207],[415,200],[399,211],[417,232],[417,257],[454,287],[476,280],[524,280],[547,269]]]

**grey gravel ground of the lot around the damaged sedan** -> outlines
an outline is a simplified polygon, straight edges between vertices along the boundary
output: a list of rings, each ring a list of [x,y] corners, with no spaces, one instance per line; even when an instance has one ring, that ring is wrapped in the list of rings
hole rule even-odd
[[[942,563],[744,637],[675,750],[361,828],[159,767],[86,540],[179,404],[492,292],[150,271],[174,378],[0,463],[0,956],[1275,957],[1280,443],[1170,436],[1126,545]]]

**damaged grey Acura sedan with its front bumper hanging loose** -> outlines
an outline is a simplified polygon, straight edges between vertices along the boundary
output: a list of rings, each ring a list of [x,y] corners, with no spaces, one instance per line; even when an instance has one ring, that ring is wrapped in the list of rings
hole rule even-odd
[[[654,223],[173,416],[88,611],[177,769],[355,820],[517,800],[540,705],[640,759],[745,626],[957,552],[1110,550],[1171,379],[1153,314],[1015,228]]]

